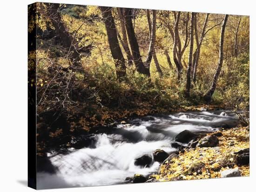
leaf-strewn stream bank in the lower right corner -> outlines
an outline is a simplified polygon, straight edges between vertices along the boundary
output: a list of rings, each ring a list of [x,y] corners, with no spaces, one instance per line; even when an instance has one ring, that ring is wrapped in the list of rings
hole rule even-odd
[[[239,151],[249,148],[249,126],[222,129],[215,133],[219,132],[222,136],[218,137],[218,147],[185,149],[163,162],[158,174],[150,177],[156,181],[221,178],[222,171],[236,167],[241,176],[249,176],[249,159],[243,164],[237,160]]]

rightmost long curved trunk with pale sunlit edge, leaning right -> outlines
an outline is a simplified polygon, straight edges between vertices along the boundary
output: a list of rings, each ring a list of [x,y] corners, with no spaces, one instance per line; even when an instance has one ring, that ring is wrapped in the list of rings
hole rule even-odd
[[[221,69],[222,69],[224,33],[225,33],[225,28],[226,28],[227,20],[228,20],[228,15],[225,15],[223,23],[222,23],[222,29],[221,29],[218,67],[216,69],[216,73],[214,74],[213,81],[212,81],[210,89],[203,96],[204,100],[207,101],[207,102],[209,102],[211,100],[211,97],[212,97],[214,91],[216,90],[217,80],[218,80],[218,77],[219,77]]]

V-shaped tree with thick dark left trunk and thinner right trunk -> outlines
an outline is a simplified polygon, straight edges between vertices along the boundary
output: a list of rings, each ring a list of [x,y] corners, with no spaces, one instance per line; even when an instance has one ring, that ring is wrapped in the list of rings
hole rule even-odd
[[[139,73],[150,77],[149,67],[150,67],[150,62],[152,60],[154,48],[155,48],[156,11],[152,10],[152,15],[153,15],[152,16],[152,32],[151,32],[151,38],[150,38],[150,43],[148,47],[148,56],[145,62],[143,62],[141,59],[140,48],[138,45],[137,38],[135,36],[134,26],[132,23],[132,17],[133,17],[132,9],[123,8],[123,13],[124,13],[128,41],[132,51],[135,68]]]

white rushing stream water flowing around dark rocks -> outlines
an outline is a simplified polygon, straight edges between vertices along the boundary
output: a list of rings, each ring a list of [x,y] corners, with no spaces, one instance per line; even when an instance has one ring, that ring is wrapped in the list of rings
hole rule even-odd
[[[65,154],[48,154],[56,173],[37,173],[39,189],[72,186],[102,186],[124,183],[126,177],[157,171],[158,162],[148,168],[134,165],[142,155],[153,156],[155,149],[175,151],[171,142],[183,130],[213,132],[223,126],[236,126],[229,111],[175,112],[130,120],[111,133],[95,134],[92,147],[68,149]],[[186,145],[186,144],[184,144]]]

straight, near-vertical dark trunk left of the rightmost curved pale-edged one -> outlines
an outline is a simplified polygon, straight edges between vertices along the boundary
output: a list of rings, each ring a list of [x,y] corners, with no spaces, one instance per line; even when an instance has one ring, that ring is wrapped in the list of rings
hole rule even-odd
[[[186,82],[186,90],[185,90],[185,95],[186,96],[190,95],[191,66],[192,66],[193,47],[194,47],[194,18],[195,18],[195,13],[192,13],[191,14],[191,22],[190,22],[189,62],[188,62],[187,82]]]

